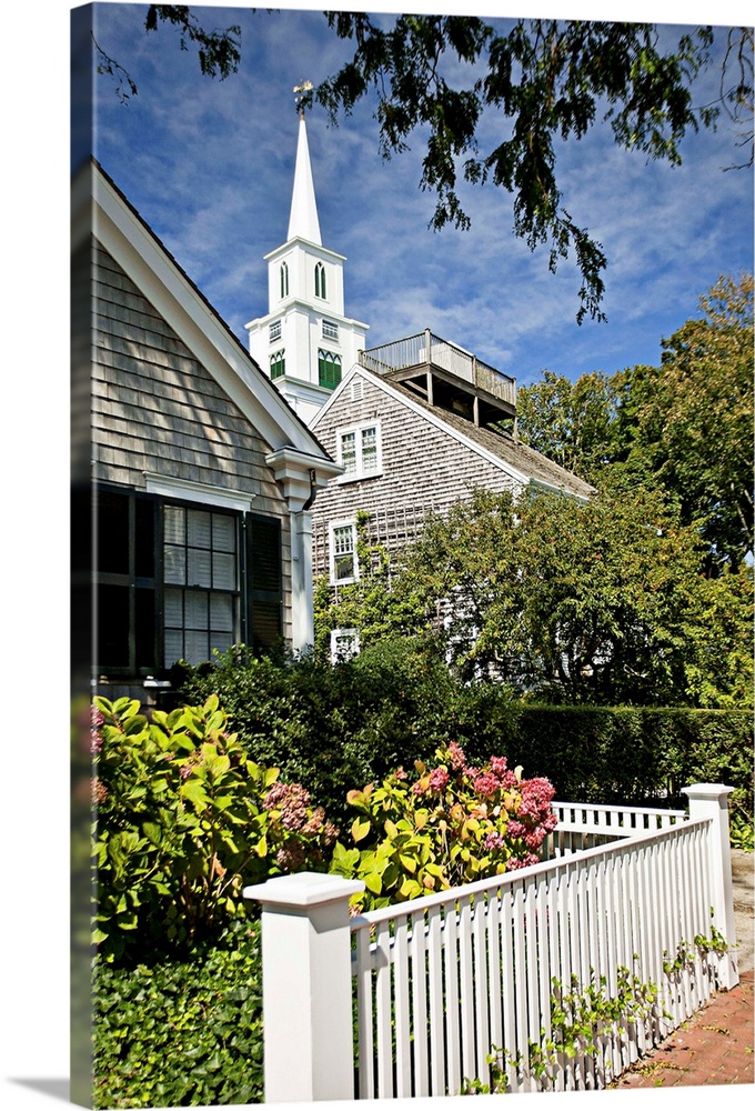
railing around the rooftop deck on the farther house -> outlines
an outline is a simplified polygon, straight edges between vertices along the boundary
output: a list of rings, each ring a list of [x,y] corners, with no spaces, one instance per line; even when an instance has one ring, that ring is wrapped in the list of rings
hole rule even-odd
[[[359,361],[366,370],[391,376],[402,370],[437,368],[492,397],[516,407],[516,379],[482,362],[463,348],[433,336],[430,330],[382,347],[360,351]]]

